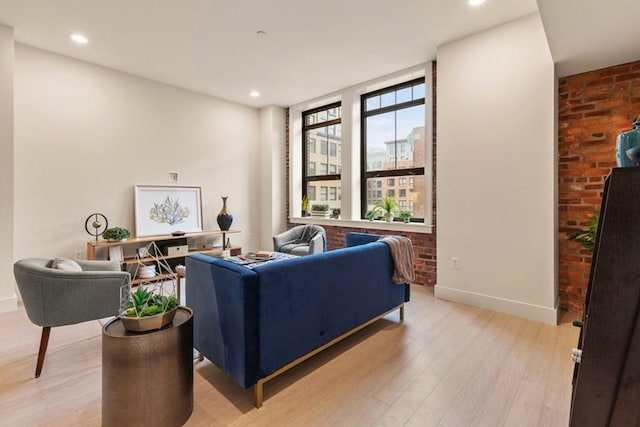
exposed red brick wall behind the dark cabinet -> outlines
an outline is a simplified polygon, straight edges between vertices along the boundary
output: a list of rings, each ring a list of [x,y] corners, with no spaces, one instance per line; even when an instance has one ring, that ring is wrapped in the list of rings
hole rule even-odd
[[[561,306],[581,311],[591,254],[567,233],[586,229],[616,166],[616,136],[640,116],[640,61],[561,78],[558,94]]]

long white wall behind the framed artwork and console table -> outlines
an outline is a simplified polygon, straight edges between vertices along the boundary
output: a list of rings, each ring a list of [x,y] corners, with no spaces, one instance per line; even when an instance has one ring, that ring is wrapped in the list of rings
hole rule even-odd
[[[92,212],[134,231],[134,185],[172,185],[169,172],[202,187],[205,230],[229,196],[232,243],[257,246],[258,110],[21,44],[15,56],[15,259],[85,251]]]

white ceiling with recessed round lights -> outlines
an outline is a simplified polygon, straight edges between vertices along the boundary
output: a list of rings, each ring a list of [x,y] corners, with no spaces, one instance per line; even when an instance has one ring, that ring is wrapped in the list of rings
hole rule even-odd
[[[0,23],[20,43],[262,107],[435,59],[438,45],[538,7],[561,75],[640,59],[639,2],[0,0]],[[71,43],[74,32],[89,44]]]

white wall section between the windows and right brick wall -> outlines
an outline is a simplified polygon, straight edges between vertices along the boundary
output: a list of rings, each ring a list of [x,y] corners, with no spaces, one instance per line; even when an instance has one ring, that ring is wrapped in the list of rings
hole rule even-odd
[[[435,294],[555,324],[555,76],[540,18],[440,46],[437,66]]]

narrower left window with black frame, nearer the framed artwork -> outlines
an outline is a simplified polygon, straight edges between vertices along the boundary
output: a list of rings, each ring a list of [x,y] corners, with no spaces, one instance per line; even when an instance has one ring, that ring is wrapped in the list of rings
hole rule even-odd
[[[319,201],[338,199],[341,170],[342,107],[340,103],[325,105],[302,113],[303,166],[302,179],[309,206]],[[313,142],[313,143],[312,143]],[[319,150],[316,145],[320,144]],[[318,169],[316,169],[318,164]],[[316,188],[319,191],[316,192]],[[319,200],[318,200],[319,196]],[[331,204],[339,208],[339,203]]]

